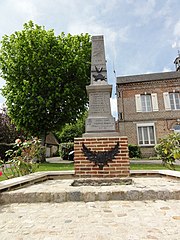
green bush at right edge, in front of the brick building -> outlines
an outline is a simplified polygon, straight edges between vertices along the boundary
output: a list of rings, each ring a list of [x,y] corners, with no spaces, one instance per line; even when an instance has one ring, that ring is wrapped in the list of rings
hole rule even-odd
[[[175,161],[180,160],[180,133],[171,133],[161,138],[155,151],[168,168],[174,169]]]

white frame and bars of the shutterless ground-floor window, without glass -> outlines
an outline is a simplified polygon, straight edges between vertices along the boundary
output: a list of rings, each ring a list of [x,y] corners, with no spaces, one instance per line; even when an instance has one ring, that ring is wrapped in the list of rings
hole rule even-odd
[[[138,132],[138,128],[139,127],[153,127],[153,133],[154,133],[154,143],[150,143],[150,133],[149,133],[149,130],[148,130],[148,140],[149,140],[149,143],[148,144],[145,144],[144,143],[144,135],[142,136],[143,137],[143,143],[140,144],[139,141],[139,132]],[[148,128],[149,129],[149,128]],[[137,132],[137,139],[138,139],[138,145],[139,146],[154,146],[156,145],[156,130],[155,130],[155,124],[154,123],[137,123],[136,124],[136,132]]]

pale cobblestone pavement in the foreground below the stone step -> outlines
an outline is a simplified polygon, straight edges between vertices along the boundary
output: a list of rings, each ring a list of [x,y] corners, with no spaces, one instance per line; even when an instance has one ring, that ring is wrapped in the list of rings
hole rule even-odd
[[[180,201],[0,206],[1,240],[179,240]]]

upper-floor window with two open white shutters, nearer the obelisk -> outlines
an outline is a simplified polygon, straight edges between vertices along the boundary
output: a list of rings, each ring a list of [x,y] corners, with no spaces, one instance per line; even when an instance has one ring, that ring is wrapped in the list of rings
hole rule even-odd
[[[136,94],[136,111],[137,112],[152,112],[158,111],[157,94]]]

